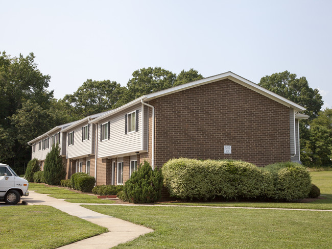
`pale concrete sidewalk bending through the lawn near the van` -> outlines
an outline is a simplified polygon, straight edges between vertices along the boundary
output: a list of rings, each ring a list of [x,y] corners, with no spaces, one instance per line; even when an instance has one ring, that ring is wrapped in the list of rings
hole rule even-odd
[[[47,205],[59,209],[70,215],[88,220],[109,230],[97,236],[80,240],[78,242],[61,246],[63,249],[108,249],[120,243],[124,243],[137,238],[140,235],[151,233],[154,230],[138,226],[131,222],[118,219],[112,216],[100,214],[89,209],[83,208],[77,203],[68,203],[62,199],[53,198],[46,194],[39,194],[30,191],[30,195],[22,196],[22,202],[27,205]]]

